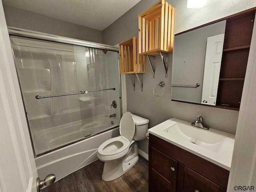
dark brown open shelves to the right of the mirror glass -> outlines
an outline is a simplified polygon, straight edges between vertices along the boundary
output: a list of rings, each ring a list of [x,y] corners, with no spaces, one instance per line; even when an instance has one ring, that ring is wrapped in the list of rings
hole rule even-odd
[[[216,107],[239,110],[255,10],[228,18]]]

